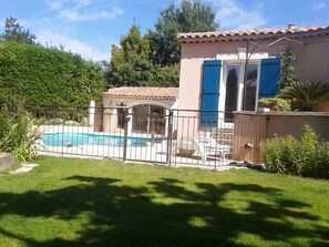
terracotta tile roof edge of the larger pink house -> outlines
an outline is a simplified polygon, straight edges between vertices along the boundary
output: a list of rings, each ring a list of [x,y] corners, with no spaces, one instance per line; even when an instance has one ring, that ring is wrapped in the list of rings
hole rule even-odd
[[[249,29],[249,30],[233,30],[233,31],[216,31],[216,32],[188,32],[178,33],[177,40],[179,43],[196,43],[196,42],[218,42],[218,41],[240,41],[259,38],[276,38],[280,35],[320,35],[329,34],[329,27],[300,27],[290,25],[280,29]]]

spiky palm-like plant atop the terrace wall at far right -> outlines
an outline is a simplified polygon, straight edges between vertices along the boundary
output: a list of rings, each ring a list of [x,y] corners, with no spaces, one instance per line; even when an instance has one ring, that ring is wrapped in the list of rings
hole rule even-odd
[[[295,82],[284,89],[279,97],[291,100],[301,111],[310,111],[315,104],[329,100],[329,84],[321,81]]]

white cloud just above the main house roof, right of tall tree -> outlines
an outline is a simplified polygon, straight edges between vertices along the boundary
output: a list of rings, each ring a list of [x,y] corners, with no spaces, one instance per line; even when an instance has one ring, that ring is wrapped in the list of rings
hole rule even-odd
[[[216,19],[220,29],[251,29],[267,23],[261,14],[263,4],[250,6],[248,10],[241,9],[236,0],[212,0],[216,12]]]

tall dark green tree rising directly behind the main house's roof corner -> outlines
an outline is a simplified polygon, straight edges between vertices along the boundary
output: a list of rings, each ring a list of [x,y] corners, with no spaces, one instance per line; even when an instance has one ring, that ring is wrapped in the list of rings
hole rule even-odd
[[[179,62],[179,48],[176,35],[178,32],[215,31],[215,12],[210,6],[199,1],[183,0],[179,8],[171,4],[160,13],[155,31],[148,31],[152,60],[161,66],[174,65]]]

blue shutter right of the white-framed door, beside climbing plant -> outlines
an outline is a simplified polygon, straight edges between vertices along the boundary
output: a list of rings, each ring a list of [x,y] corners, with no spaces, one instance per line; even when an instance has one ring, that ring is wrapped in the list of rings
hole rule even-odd
[[[263,59],[258,99],[275,96],[279,93],[281,59]]]

